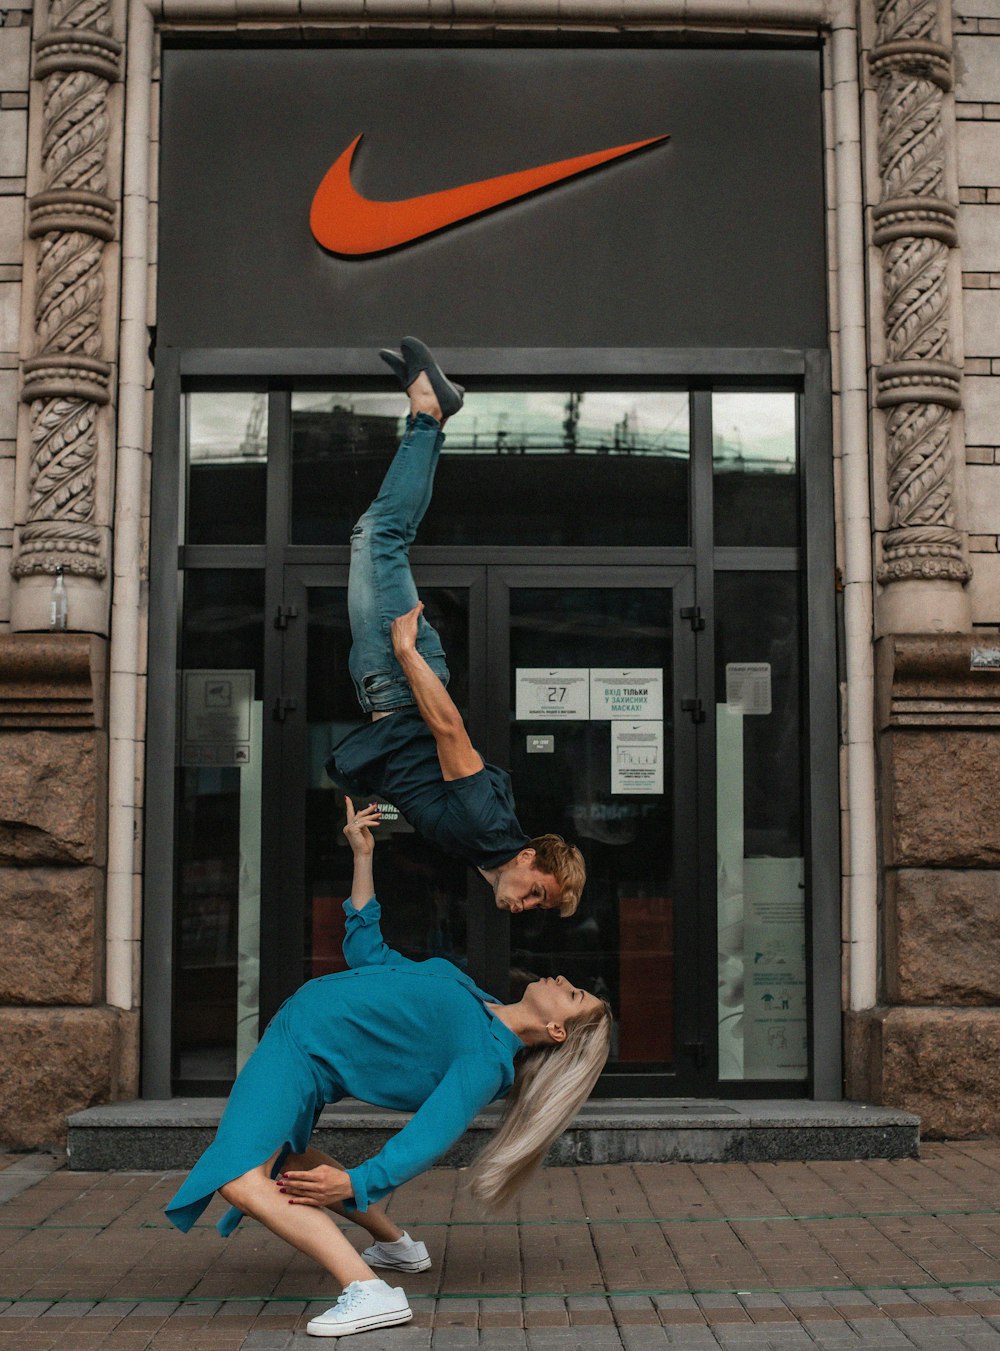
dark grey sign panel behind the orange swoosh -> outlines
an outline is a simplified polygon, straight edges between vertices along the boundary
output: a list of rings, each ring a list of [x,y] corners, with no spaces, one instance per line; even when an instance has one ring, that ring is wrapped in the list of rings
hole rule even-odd
[[[354,189],[403,201],[669,139],[339,257]],[[158,340],[358,347],[823,347],[819,51],[176,49],[164,53]]]

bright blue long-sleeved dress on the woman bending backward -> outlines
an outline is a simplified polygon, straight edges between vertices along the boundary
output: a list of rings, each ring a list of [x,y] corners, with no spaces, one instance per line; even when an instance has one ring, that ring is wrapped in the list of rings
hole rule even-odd
[[[435,957],[409,958],[385,944],[381,911],[345,901],[349,971],[307,981],[281,1005],[232,1086],[215,1140],[166,1206],[185,1232],[212,1194],[278,1151],[308,1146],[319,1113],[342,1097],[415,1116],[373,1158],[349,1169],[353,1201],[366,1210],[428,1169],[488,1102],[514,1084],[524,1043],[495,1017],[500,1001]],[[232,1232],[231,1208],[219,1232]]]

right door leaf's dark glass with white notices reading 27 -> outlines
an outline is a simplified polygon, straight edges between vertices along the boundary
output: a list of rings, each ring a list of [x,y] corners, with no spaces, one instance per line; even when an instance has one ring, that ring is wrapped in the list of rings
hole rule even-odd
[[[677,1066],[677,939],[686,942],[695,905],[691,840],[678,842],[676,819],[678,748],[689,771],[693,724],[674,713],[674,673],[693,674],[692,634],[676,628],[670,586],[586,585],[586,569],[570,578],[582,585],[492,588],[507,597],[522,824],[573,840],[588,867],[572,919],[512,920],[511,967],[522,979],[562,973],[609,1000],[608,1071],[658,1075]]]

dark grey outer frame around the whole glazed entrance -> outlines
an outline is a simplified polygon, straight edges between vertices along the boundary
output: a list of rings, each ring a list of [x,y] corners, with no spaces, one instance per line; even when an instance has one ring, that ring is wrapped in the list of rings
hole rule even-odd
[[[442,359],[455,372],[484,381],[536,381],[538,378],[599,378],[655,381],[684,385],[692,390],[692,450],[705,436],[711,444],[711,416],[707,392],[712,384],[735,381],[746,388],[766,388],[792,381],[800,388],[800,484],[803,550],[803,708],[808,736],[805,778],[807,852],[807,961],[809,973],[809,1079],[791,1088],[774,1084],[768,1096],[811,1096],[819,1100],[842,1097],[842,1011],[841,1011],[841,840],[839,840],[839,689],[838,661],[843,651],[842,603],[836,585],[834,551],[834,455],[830,354],[822,349],[449,349]],[[174,943],[174,774],[177,739],[176,669],[181,621],[181,577],[188,563],[264,567],[268,565],[266,605],[274,596],[273,580],[281,577],[272,566],[284,562],[346,563],[346,549],[291,547],[278,543],[288,508],[289,416],[282,403],[291,382],[316,384],[335,378],[374,388],[376,359],[368,349],[169,349],[155,351],[155,400],[151,457],[150,589],[146,784],[143,819],[154,828],[143,832],[143,919],[142,919],[142,1093],[169,1098],[172,1088],[172,1000]],[[189,382],[205,388],[272,389],[268,426],[268,542],[253,547],[200,547],[178,544],[178,520],[184,500],[184,435],[181,394]],[[380,381],[380,386],[384,381]],[[282,412],[284,409],[284,412]],[[282,457],[285,457],[282,459]],[[705,459],[708,465],[705,466]],[[699,662],[699,697],[712,707],[712,574],[715,569],[766,566],[757,550],[750,561],[745,550],[714,549],[704,528],[711,516],[711,455],[692,455],[693,546],[664,550],[643,547],[628,551],[631,565],[697,563],[696,605],[705,619]],[[284,517],[282,517],[284,512]],[[595,563],[616,565],[619,550],[588,551]],[[776,555],[797,551],[774,550]],[[474,562],[477,550],[462,551],[462,561]],[[574,562],[568,551],[512,551],[511,562]],[[436,555],[436,557],[435,557]],[[414,550],[414,561],[446,562],[441,550]],[[457,563],[458,566],[458,563]],[[270,609],[266,619],[273,613]],[[265,643],[265,686],[273,681],[268,665],[272,643]],[[270,688],[265,696],[272,697]],[[265,747],[273,730],[265,717]],[[705,738],[714,731],[707,720]],[[714,751],[714,746],[711,747]],[[703,839],[715,839],[714,785],[699,784],[699,813]],[[265,811],[266,811],[265,805]],[[711,827],[709,823],[711,821]],[[714,888],[714,848],[703,850],[703,886]],[[711,880],[711,882],[709,882]],[[262,889],[268,878],[262,877]],[[709,893],[705,893],[709,894]],[[703,950],[711,944],[703,944]],[[714,954],[711,954],[714,957]],[[715,992],[715,963],[705,959],[699,981]],[[741,1086],[726,1085],[727,1096],[739,1097]],[[759,1096],[759,1086],[750,1092]],[[746,1094],[745,1094],[746,1096]]]

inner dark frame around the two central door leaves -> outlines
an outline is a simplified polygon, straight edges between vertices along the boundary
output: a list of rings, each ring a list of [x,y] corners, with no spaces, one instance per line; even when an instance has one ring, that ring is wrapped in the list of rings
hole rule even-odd
[[[264,842],[264,875],[269,885],[261,889],[261,936],[268,962],[261,965],[261,1031],[281,1001],[303,978],[303,924],[305,913],[305,800],[301,792],[303,769],[308,755],[307,739],[307,661],[308,661],[308,592],[312,588],[346,588],[347,569],[338,563],[291,563],[285,567],[285,607],[296,617],[282,630],[281,692],[291,697],[289,708],[272,738],[272,769],[266,774],[265,813],[280,821],[277,832]],[[705,898],[697,894],[697,812],[689,784],[697,774],[696,724],[681,701],[693,697],[696,688],[696,640],[681,609],[693,604],[695,577],[691,567],[608,567],[584,563],[559,567],[477,563],[450,566],[414,563],[419,590],[435,586],[459,586],[469,592],[469,732],[486,759],[509,769],[509,593],[522,586],[566,589],[642,588],[669,590],[672,594],[672,717],[673,717],[673,840],[674,840],[674,971],[695,970],[699,942],[704,940],[701,916]],[[477,693],[478,692],[478,693]],[[266,709],[265,709],[266,715]],[[273,728],[272,728],[273,731]],[[685,790],[686,789],[686,790]],[[474,869],[466,873],[466,932],[470,975],[484,989],[503,989],[509,969],[509,923],[491,904],[485,884]],[[686,954],[686,959],[685,959]],[[668,1092],[697,1092],[705,1088],[705,1062],[691,1061],[682,1047],[709,1039],[699,1025],[711,1013],[697,988],[677,997],[674,975],[674,1066],[665,1073],[619,1071],[605,1075],[603,1093],[627,1089],[632,1096],[659,1096]]]

